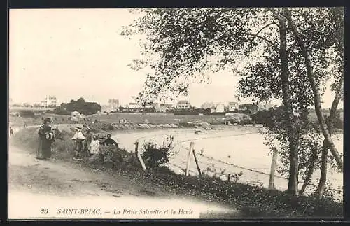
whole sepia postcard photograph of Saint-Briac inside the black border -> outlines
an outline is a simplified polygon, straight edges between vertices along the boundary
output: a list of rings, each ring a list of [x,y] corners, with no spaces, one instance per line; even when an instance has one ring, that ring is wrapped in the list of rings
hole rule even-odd
[[[342,219],[344,8],[11,8],[8,219]]]

